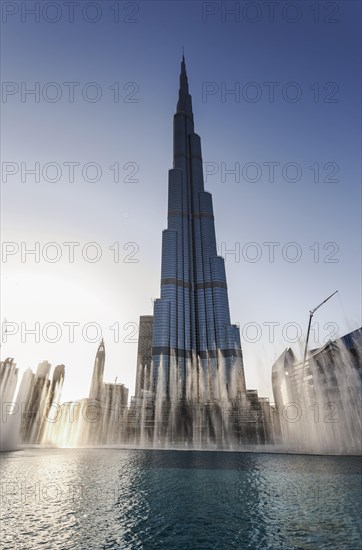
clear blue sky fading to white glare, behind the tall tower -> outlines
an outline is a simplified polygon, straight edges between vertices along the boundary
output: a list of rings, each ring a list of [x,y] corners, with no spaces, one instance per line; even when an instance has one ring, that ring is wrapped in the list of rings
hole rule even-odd
[[[36,22],[24,11],[34,4],[2,3],[1,152],[2,162],[12,163],[3,171],[16,171],[7,181],[3,174],[2,228],[3,240],[19,250],[39,242],[48,261],[22,262],[20,251],[3,258],[2,320],[19,330],[8,334],[2,358],[15,357],[21,370],[43,359],[64,363],[64,398],[85,396],[97,343],[81,332],[95,322],[105,338],[106,379],[118,376],[133,393],[137,344],[124,339],[159,296],[184,46],[220,252],[240,249],[240,261],[226,256],[226,269],[247,385],[271,397],[274,359],[302,345],[292,342],[297,329],[290,323],[305,331],[308,310],[336,289],[316,314],[311,346],[361,323],[360,3],[278,2],[270,15],[264,2],[80,0],[73,22],[64,2],[38,3]],[[240,17],[225,13],[235,5]],[[36,86],[38,98],[26,94]],[[225,94],[231,89],[237,95]],[[95,94],[101,97],[92,102]],[[25,173],[36,162],[39,182]],[[70,162],[79,163],[74,181]],[[100,167],[99,181],[89,181],[96,172],[87,163]],[[118,183],[109,168],[115,163]],[[274,181],[270,163],[278,163]],[[51,182],[54,166],[59,181]],[[237,176],[225,175],[235,166]],[[49,261],[55,248],[43,248],[49,242],[58,243],[56,263]],[[65,242],[80,243],[73,263]],[[89,242],[102,251],[98,262],[82,256]],[[109,250],[115,242],[118,263]],[[270,242],[280,243],[274,262],[263,244]],[[291,242],[297,245],[285,246]],[[126,243],[136,244],[124,250]],[[124,262],[133,250],[138,263]],[[301,258],[293,262],[295,254]],[[51,326],[39,342],[26,335],[36,322],[40,331],[57,323],[59,341],[49,342],[56,339]],[[74,342],[69,322],[79,323]],[[109,328],[115,323],[119,343]],[[274,338],[270,323],[279,323]],[[96,337],[91,327],[87,338]]]

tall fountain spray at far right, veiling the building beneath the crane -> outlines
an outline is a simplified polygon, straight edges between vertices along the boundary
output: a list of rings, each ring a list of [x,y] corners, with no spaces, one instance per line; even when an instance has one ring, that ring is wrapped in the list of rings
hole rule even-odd
[[[361,454],[362,329],[298,361],[286,350],[273,365],[282,442],[301,453]]]

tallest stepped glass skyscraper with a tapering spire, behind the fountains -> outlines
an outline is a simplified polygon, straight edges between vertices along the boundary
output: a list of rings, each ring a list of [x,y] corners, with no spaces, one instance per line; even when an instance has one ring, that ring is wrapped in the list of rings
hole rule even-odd
[[[170,400],[240,397],[245,395],[240,334],[230,323],[224,259],[217,255],[212,196],[204,189],[184,57],[173,145],[150,389]]]

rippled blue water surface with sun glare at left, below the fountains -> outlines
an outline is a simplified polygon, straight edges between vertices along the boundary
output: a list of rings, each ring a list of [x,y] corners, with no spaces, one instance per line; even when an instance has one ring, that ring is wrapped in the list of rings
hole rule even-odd
[[[362,546],[356,457],[28,449],[1,481],[4,549]]]

